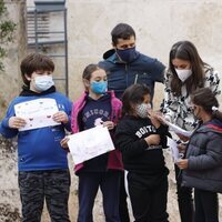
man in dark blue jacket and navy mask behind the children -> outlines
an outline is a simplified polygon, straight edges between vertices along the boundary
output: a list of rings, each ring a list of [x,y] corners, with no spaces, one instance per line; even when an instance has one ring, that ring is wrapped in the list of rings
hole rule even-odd
[[[117,24],[111,31],[112,50],[103,54],[104,61],[99,65],[108,73],[108,89],[114,90],[121,98],[124,90],[135,83],[143,83],[150,88],[151,103],[155,82],[163,82],[164,65],[157,59],[144,56],[135,50],[135,32],[127,23]],[[124,180],[120,189],[120,218],[129,222]]]

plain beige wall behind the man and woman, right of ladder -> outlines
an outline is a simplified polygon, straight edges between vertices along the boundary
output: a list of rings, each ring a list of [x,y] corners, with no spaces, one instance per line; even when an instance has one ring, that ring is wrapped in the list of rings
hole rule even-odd
[[[180,40],[192,41],[202,59],[222,73],[221,0],[68,0],[70,97],[82,90],[81,73],[111,48],[111,29],[119,22],[137,32],[137,49],[168,65],[169,51]],[[155,90],[154,105],[162,99]]]

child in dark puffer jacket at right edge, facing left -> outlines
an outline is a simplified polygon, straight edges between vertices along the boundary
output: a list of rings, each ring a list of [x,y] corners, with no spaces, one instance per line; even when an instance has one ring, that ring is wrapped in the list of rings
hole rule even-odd
[[[222,112],[209,88],[191,95],[194,115],[200,124],[190,138],[185,158],[176,164],[182,185],[194,188],[194,222],[219,222],[218,192],[222,193]]]

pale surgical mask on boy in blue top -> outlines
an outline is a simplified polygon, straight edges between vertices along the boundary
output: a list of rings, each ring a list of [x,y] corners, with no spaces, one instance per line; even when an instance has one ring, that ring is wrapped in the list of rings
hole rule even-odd
[[[34,78],[34,88],[40,92],[47,91],[52,85],[54,85],[54,82],[51,75],[39,75]]]

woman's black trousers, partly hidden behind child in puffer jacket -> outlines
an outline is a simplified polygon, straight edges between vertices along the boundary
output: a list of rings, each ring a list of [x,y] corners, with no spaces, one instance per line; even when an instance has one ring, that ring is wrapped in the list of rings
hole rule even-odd
[[[182,172],[174,164],[175,169],[175,180],[176,180],[176,194],[178,194],[178,204],[181,222],[193,222],[194,220],[194,208],[192,199],[192,189],[182,186]]]

